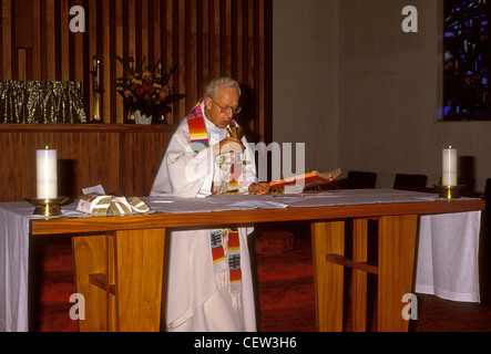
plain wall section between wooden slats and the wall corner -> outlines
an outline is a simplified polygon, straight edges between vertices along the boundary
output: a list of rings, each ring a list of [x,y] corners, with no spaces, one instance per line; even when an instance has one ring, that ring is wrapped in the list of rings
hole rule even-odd
[[[306,143],[307,170],[336,168],[337,1],[273,2],[273,140]]]

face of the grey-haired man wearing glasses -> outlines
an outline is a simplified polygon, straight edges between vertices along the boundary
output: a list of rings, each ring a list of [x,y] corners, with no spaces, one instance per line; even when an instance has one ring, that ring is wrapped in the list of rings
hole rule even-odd
[[[222,86],[213,98],[206,97],[206,117],[217,127],[226,128],[238,107],[238,98],[237,90]]]

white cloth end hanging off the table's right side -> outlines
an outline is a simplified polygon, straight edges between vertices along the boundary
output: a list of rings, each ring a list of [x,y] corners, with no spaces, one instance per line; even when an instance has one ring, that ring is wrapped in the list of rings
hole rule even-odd
[[[419,228],[415,291],[480,302],[481,211],[422,216]]]

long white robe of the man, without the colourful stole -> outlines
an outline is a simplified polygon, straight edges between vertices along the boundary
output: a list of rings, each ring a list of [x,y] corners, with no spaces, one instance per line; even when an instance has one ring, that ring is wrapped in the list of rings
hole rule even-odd
[[[202,110],[204,113],[203,106]],[[225,138],[227,133],[226,129],[216,127],[206,117],[204,119],[208,147],[198,153],[193,152],[187,122],[183,119],[168,144],[151,196],[208,197],[212,195],[212,186],[219,185],[218,179],[224,177],[225,168],[219,167],[223,156],[213,155],[213,145]],[[247,146],[245,138],[243,138],[243,144]],[[241,155],[247,160],[247,165],[243,171],[245,178],[239,184],[239,191],[246,192],[248,185],[257,181],[257,178],[249,149]],[[224,225],[224,228],[227,226]],[[237,298],[234,301],[229,290],[228,272],[225,272],[225,285],[223,285],[224,281],[216,279],[209,230],[171,232],[165,311],[167,331],[256,331],[254,290],[247,247],[248,230],[248,228],[238,229],[242,270],[242,293],[238,303]],[[227,237],[223,237],[223,246],[226,254]]]

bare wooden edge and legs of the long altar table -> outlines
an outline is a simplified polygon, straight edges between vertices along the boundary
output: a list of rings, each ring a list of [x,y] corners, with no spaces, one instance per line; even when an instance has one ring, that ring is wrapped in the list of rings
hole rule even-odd
[[[311,225],[318,331],[342,330],[345,267],[355,271],[355,331],[366,330],[367,272],[378,275],[378,330],[408,331],[400,301],[413,291],[419,217],[484,207],[483,200],[462,199],[38,219],[30,221],[30,242],[49,235],[72,237],[76,289],[92,304],[82,331],[158,331],[166,230],[216,227],[223,220],[237,226],[303,220]],[[379,221],[377,266],[367,263],[367,220],[374,218]],[[355,226],[352,258],[345,256],[345,222]]]

